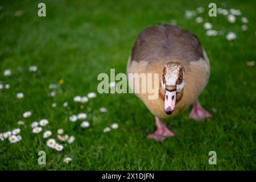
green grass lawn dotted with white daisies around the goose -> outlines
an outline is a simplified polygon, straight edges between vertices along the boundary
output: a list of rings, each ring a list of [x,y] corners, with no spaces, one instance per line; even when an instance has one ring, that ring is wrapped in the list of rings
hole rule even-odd
[[[195,18],[185,19],[186,9],[212,1],[44,1],[47,17],[39,18],[38,3],[42,1],[1,1],[0,6],[0,80],[10,89],[0,90],[0,133],[19,127],[24,111],[32,116],[23,119],[23,139],[11,144],[0,142],[0,169],[35,170],[255,170],[255,1],[227,1],[226,8],[240,9],[249,19],[248,30],[241,31],[240,19],[234,24],[218,15],[210,18],[215,30],[233,31],[237,39],[228,42],[225,36],[208,37],[203,24]],[[217,6],[222,5],[216,2]],[[23,10],[22,16],[14,16]],[[200,39],[211,64],[209,84],[200,95],[201,104],[214,115],[205,122],[188,118],[189,110],[178,117],[166,119],[167,126],[177,134],[163,143],[147,139],[155,130],[153,115],[133,94],[97,94],[85,104],[75,104],[76,95],[97,92],[97,75],[115,68],[126,72],[126,61],[133,43],[144,27],[157,23],[177,24],[191,30]],[[37,65],[39,71],[28,71]],[[3,76],[11,69],[11,77]],[[56,97],[49,98],[48,85],[64,80]],[[22,100],[16,93],[23,92]],[[65,109],[63,102],[69,102]],[[57,103],[56,108],[51,104]],[[100,107],[108,113],[100,113]],[[217,111],[214,113],[212,108]],[[91,126],[81,129],[80,121],[68,121],[71,114],[88,113]],[[74,135],[75,143],[65,144],[57,152],[46,146],[42,133],[33,134],[32,121],[47,118],[43,130],[56,130]],[[118,130],[103,133],[111,123]],[[46,151],[47,164],[38,164],[38,152]],[[208,152],[217,152],[217,165],[209,165]],[[73,162],[63,163],[65,156]]]

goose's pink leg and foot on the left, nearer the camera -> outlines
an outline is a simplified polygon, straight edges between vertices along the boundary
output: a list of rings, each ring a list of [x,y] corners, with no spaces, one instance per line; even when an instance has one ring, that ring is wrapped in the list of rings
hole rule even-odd
[[[158,117],[155,117],[155,123],[158,129],[152,134],[147,135],[148,138],[152,138],[156,141],[163,142],[167,137],[173,137],[174,133],[170,131],[164,122],[161,121]]]

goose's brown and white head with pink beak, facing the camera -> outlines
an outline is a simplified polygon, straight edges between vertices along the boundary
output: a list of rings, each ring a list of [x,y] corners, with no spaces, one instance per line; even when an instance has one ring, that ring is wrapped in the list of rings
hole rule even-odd
[[[184,67],[181,63],[169,62],[164,65],[161,79],[162,89],[165,93],[164,111],[170,115],[175,110],[177,94],[179,94],[186,83]]]

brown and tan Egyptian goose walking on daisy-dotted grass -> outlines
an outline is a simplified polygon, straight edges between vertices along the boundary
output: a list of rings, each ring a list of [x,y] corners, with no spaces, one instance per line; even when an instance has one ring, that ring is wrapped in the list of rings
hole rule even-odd
[[[150,99],[151,93],[135,93],[155,116],[157,129],[148,137],[163,141],[174,136],[160,118],[170,118],[182,113],[193,104],[190,118],[203,120],[212,115],[200,105],[198,97],[208,83],[210,64],[207,53],[196,35],[172,24],[148,27],[138,35],[127,63],[127,74],[158,73],[153,88],[158,97]],[[129,86],[134,92],[134,81]],[[140,81],[137,88],[142,88]]]

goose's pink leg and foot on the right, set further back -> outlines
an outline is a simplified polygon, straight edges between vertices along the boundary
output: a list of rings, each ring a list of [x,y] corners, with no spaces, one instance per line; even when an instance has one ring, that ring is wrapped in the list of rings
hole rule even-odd
[[[199,103],[198,98],[193,104],[193,108],[189,114],[189,118],[196,119],[197,121],[203,120],[205,118],[211,118],[212,114],[210,114],[207,110],[205,110]]]

